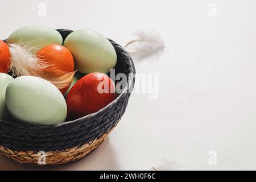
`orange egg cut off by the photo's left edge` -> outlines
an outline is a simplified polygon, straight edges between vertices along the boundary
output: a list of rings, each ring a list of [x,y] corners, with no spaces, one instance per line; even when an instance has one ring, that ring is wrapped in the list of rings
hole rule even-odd
[[[0,73],[9,72],[9,62],[10,62],[10,51],[9,46],[0,40]]]

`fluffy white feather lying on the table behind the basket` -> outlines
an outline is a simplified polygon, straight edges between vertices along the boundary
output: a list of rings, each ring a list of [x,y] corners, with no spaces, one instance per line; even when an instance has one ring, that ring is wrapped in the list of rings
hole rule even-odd
[[[165,44],[163,39],[155,31],[135,32],[136,38],[126,44],[125,49],[132,57],[142,60],[146,57],[161,53]]]

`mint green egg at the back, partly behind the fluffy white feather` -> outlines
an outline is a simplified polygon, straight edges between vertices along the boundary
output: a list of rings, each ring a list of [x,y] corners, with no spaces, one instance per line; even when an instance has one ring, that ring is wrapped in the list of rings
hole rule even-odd
[[[28,46],[36,47],[39,51],[50,44],[63,44],[60,33],[51,27],[28,25],[18,28],[9,36],[7,44],[26,43]]]

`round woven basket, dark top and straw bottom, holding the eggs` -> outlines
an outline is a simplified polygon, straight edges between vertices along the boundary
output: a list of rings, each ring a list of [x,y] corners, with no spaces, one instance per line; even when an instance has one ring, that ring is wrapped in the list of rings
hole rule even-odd
[[[72,32],[57,31],[63,36],[63,41]],[[81,159],[106,139],[125,113],[135,82],[135,68],[129,53],[113,40],[109,41],[117,52],[115,75],[124,73],[127,77],[117,98],[97,113],[57,125],[0,120],[2,154],[21,164],[63,164]]]

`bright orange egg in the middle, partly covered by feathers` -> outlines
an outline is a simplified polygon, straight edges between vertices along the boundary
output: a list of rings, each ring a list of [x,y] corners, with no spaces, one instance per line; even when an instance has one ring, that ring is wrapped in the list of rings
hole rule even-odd
[[[52,67],[46,68],[44,70],[44,73],[47,74],[47,77],[60,77],[64,73],[73,72],[75,69],[75,64],[71,52],[67,48],[58,44],[51,44],[46,46],[42,48],[36,55],[39,57],[42,63],[52,65]],[[60,89],[60,92],[65,94],[70,84],[63,89]]]

